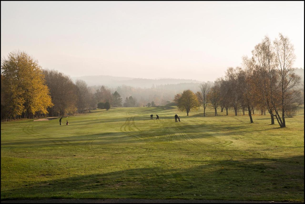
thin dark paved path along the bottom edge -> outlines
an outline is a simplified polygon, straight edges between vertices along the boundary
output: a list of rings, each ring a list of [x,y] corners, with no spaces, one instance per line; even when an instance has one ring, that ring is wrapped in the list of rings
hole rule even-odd
[[[277,201],[240,200],[180,200],[180,199],[46,199],[46,200],[4,200],[1,203],[289,203]]]

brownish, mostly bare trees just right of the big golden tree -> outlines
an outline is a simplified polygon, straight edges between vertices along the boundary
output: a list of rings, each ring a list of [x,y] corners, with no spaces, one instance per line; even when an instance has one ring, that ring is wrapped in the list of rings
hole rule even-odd
[[[122,106],[122,98],[115,91],[102,86],[92,91],[85,81],[71,78],[56,70],[43,70],[45,81],[50,89],[54,106],[48,107],[48,116],[63,116],[65,114],[84,113],[91,109],[110,109]]]

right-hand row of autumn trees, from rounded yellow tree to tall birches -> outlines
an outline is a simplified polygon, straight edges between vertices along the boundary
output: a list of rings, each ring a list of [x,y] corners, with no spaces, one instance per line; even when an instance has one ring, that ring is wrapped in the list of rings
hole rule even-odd
[[[271,124],[276,118],[280,127],[286,127],[285,113],[292,116],[299,104],[302,94],[298,88],[300,76],[292,68],[295,59],[293,45],[289,38],[279,34],[273,43],[266,36],[252,51],[252,57],[242,58],[242,67],[230,67],[225,77],[215,81],[213,86],[207,83],[200,85],[200,91],[194,94],[185,90],[175,95],[178,109],[188,112],[203,106],[217,108],[221,112],[233,108],[235,115],[242,109],[243,115],[248,112],[250,123],[253,123],[254,109],[271,116]]]

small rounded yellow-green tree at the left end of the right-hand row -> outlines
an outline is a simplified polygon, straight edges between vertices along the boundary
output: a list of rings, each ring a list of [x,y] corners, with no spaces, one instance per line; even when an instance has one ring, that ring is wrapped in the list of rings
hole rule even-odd
[[[200,103],[196,95],[191,90],[184,90],[181,97],[178,99],[178,110],[181,112],[186,111],[186,114],[191,110],[198,110]]]

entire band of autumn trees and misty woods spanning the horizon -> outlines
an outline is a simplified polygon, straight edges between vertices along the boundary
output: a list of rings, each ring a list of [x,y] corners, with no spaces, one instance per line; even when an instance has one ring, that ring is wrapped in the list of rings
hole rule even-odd
[[[289,38],[279,34],[279,38],[271,42],[266,36],[254,47],[250,58],[242,58],[242,67],[229,67],[224,77],[214,83],[200,84],[200,91],[194,93],[196,83],[167,84],[149,89],[125,85],[116,89],[88,87],[83,80],[74,82],[64,73],[43,70],[26,52],[14,51],[1,62],[1,119],[64,116],[90,112],[95,108],[166,105],[172,95],[183,90],[183,86],[192,90],[176,94],[174,102],[187,115],[200,106],[203,106],[203,116],[207,106],[215,110],[215,116],[218,108],[221,112],[225,109],[226,115],[232,108],[235,115],[238,110],[242,110],[243,115],[247,112],[253,123],[252,114],[256,110],[270,114],[271,124],[275,118],[280,127],[285,127],[285,116],[293,116],[298,105],[303,103],[301,79],[292,68],[294,59]],[[178,88],[175,93],[174,88]],[[126,97],[124,102],[119,93]]]

